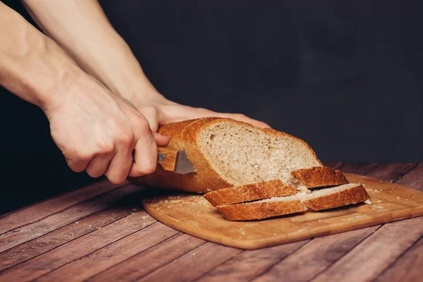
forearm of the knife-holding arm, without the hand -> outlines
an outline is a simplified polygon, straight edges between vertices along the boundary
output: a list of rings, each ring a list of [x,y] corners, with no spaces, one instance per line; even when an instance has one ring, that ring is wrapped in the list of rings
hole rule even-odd
[[[0,2],[0,85],[42,109],[84,72],[51,39]]]

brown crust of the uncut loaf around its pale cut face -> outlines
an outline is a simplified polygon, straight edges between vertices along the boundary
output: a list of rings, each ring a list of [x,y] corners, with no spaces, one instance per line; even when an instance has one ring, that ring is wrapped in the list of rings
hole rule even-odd
[[[157,167],[156,171],[150,175],[128,179],[130,182],[137,185],[150,185],[157,188],[199,193],[233,187],[235,183],[232,183],[231,180],[224,179],[212,167],[212,164],[209,163],[207,157],[204,156],[204,153],[200,149],[200,146],[198,146],[197,139],[203,128],[206,128],[214,123],[228,121],[231,123],[238,123],[245,127],[250,127],[254,130],[261,130],[272,137],[290,136],[295,138],[298,142],[302,142],[302,144],[305,145],[310,152],[312,152],[317,162],[321,164],[312,148],[309,147],[309,145],[307,145],[307,143],[303,140],[300,140],[292,135],[288,135],[277,130],[271,130],[269,128],[256,128],[249,123],[235,121],[231,118],[199,118],[178,123],[168,123],[166,125],[162,125],[158,130],[158,133],[170,138],[168,147],[185,150],[188,159],[190,159],[195,167],[195,173],[177,174],[169,171],[163,171],[161,168]]]

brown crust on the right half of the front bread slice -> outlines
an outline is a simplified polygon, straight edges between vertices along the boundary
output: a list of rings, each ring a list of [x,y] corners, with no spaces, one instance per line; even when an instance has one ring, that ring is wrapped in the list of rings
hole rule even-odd
[[[347,204],[357,204],[369,199],[369,194],[367,194],[363,185],[360,184],[348,190],[334,192],[314,199],[303,200],[302,204],[313,211],[320,211],[322,209],[343,207]]]

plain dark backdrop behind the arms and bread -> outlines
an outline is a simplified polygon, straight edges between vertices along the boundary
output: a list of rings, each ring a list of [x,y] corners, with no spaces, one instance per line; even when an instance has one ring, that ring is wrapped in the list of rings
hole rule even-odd
[[[417,1],[100,2],[173,101],[265,121],[322,161],[423,159]],[[0,214],[94,181],[66,166],[42,111],[0,93]]]

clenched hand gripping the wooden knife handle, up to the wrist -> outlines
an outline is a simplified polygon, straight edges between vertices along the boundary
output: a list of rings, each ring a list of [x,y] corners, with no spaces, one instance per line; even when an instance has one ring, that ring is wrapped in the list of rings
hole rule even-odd
[[[128,100],[89,77],[58,96],[43,109],[51,136],[73,171],[104,174],[112,183],[155,171],[157,145],[166,146],[168,138],[152,132]]]

